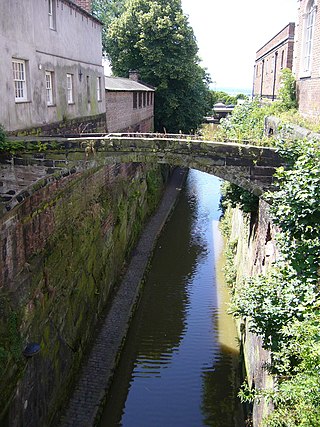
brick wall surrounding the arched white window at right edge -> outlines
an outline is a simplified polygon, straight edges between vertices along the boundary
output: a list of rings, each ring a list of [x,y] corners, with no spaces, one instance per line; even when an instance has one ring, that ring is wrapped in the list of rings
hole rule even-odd
[[[304,45],[304,14],[308,0],[299,2],[298,23],[296,26],[294,74],[297,79],[299,111],[302,115],[316,117],[320,114],[320,9],[316,12],[310,73],[304,74],[302,68]],[[319,7],[319,6],[318,6]]]

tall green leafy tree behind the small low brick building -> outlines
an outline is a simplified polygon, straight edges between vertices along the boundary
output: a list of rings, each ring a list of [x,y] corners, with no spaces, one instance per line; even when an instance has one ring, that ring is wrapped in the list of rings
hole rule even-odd
[[[155,127],[192,132],[208,110],[208,76],[181,0],[127,0],[109,26],[106,51],[115,75],[139,70],[157,88]]]

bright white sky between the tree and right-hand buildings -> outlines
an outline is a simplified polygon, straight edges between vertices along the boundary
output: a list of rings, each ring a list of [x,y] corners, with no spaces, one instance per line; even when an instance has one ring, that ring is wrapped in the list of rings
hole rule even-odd
[[[212,89],[251,89],[257,50],[297,18],[297,0],[181,1]]]

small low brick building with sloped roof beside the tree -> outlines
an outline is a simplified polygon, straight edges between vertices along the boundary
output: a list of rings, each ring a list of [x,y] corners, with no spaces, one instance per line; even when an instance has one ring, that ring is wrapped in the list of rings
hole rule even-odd
[[[106,122],[108,132],[152,132],[154,128],[154,91],[130,78],[105,77]]]

